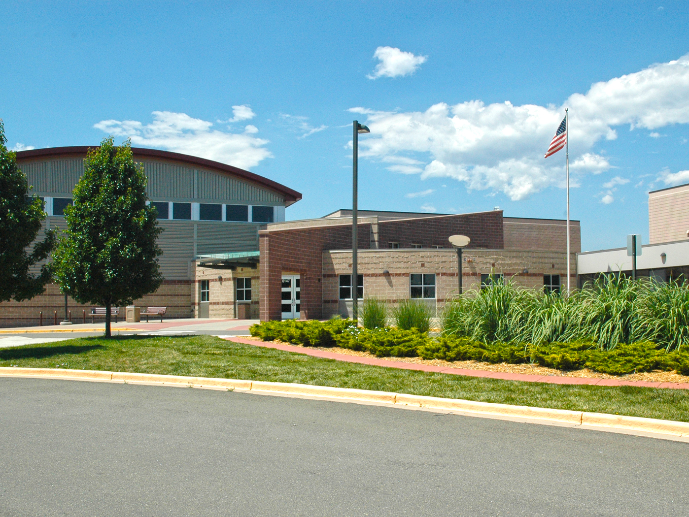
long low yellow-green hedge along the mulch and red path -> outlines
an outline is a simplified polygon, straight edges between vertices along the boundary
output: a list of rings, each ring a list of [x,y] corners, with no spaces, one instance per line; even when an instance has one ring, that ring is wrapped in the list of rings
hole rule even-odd
[[[651,370],[676,370],[689,375],[689,350],[666,352],[651,341],[618,344],[601,350],[590,341],[542,345],[492,343],[469,337],[429,337],[417,329],[364,329],[351,319],[329,321],[267,321],[252,325],[251,335],[263,341],[280,339],[304,346],[340,346],[370,352],[377,357],[421,357],[444,361],[485,361],[488,363],[535,363],[557,370],[581,370],[624,375]]]

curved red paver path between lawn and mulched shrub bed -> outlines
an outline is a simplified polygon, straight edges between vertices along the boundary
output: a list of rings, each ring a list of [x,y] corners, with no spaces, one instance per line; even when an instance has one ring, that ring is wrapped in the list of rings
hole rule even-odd
[[[326,350],[313,350],[301,346],[271,343],[266,341],[253,341],[241,337],[226,337],[229,341],[245,343],[266,348],[277,348],[296,352],[298,354],[336,359],[348,363],[371,364],[385,366],[387,368],[401,368],[402,370],[420,370],[422,372],[448,373],[452,375],[466,375],[468,377],[485,377],[486,379],[503,379],[505,381],[548,382],[552,384],[590,384],[593,386],[637,386],[639,388],[672,388],[676,390],[689,390],[689,383],[675,382],[649,382],[649,381],[618,381],[617,379],[591,379],[587,377],[559,377],[557,375],[532,375],[526,373],[486,372],[485,370],[467,370],[466,368],[448,368],[446,366],[433,366],[431,364],[403,363],[402,361],[387,361],[377,357],[359,357],[356,355],[338,354]]]

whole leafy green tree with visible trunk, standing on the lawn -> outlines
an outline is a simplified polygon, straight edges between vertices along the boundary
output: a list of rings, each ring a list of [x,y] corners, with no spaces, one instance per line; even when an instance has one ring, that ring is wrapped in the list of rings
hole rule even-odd
[[[105,306],[105,337],[112,306],[131,304],[163,282],[156,244],[163,230],[145,189],[130,141],[117,147],[110,136],[89,149],[74,204],[65,209],[68,229],[54,253],[56,277],[77,301]]]

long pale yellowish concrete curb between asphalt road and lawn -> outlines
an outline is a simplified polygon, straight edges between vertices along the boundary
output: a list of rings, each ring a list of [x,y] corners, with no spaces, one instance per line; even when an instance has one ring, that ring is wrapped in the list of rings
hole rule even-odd
[[[12,368],[0,367],[0,377],[33,377],[72,381],[96,381],[147,384],[156,386],[177,386],[183,388],[203,388],[255,392],[258,394],[282,394],[289,396],[313,397],[358,403],[376,403],[390,406],[409,406],[461,412],[469,416],[483,416],[497,419],[526,420],[546,425],[568,425],[586,429],[626,432],[655,436],[657,438],[689,436],[689,423],[671,420],[646,419],[639,416],[624,416],[606,413],[533,408],[524,405],[508,405],[478,402],[462,399],[442,399],[404,393],[392,393],[353,388],[331,388],[309,384],[244,381],[240,379],[214,379],[211,377],[184,377],[181,375],[158,375],[130,372],[101,372],[97,370],[67,370],[63,368]]]

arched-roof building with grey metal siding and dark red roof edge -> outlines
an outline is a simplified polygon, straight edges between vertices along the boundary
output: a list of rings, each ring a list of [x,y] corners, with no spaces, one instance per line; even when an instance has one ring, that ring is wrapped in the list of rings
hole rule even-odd
[[[28,176],[32,193],[45,202],[45,229],[66,228],[63,210],[83,175],[88,147],[52,147],[17,152],[17,163]],[[136,300],[138,306],[167,306],[169,317],[209,315],[200,303],[195,258],[214,253],[258,253],[258,230],[285,220],[285,207],[301,194],[257,174],[184,154],[132,148],[147,177],[147,196],[158,209],[163,234],[158,245],[165,280],[158,291]],[[217,282],[218,275],[215,279]],[[218,284],[220,285],[220,284]],[[227,286],[225,286],[227,288]],[[68,299],[74,321],[92,306]],[[216,308],[214,308],[215,312]],[[0,326],[34,325],[64,317],[64,295],[49,284],[45,293],[25,302],[0,303]]]

